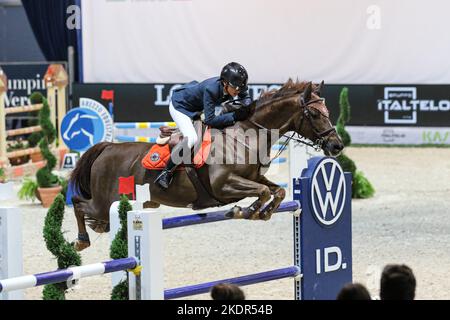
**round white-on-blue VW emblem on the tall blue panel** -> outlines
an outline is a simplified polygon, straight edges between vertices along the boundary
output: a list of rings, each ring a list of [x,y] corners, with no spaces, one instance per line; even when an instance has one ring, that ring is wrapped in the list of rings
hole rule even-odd
[[[311,202],[314,216],[325,226],[333,225],[345,205],[345,175],[339,163],[325,158],[316,167],[311,179]]]

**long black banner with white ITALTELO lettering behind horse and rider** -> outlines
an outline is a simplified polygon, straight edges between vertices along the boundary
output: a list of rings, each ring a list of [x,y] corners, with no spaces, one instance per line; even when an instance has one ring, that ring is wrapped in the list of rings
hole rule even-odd
[[[116,122],[171,121],[170,96],[180,84],[77,84],[74,105],[80,97],[101,101],[103,90],[115,92]],[[331,121],[339,116],[341,90],[349,89],[352,126],[446,127],[450,124],[450,85],[326,85],[323,96]],[[258,99],[263,91],[280,84],[251,84],[250,95]]]

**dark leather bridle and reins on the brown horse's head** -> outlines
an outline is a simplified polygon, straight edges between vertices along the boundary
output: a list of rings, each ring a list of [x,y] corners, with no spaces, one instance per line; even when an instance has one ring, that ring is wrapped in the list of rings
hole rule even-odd
[[[268,164],[270,164],[273,160],[275,160],[276,158],[278,158],[283,152],[284,150],[286,150],[289,142],[291,140],[304,144],[306,146],[312,147],[314,148],[316,151],[320,151],[323,148],[323,144],[327,141],[327,137],[332,133],[332,132],[336,132],[336,129],[334,127],[331,127],[330,129],[327,129],[325,131],[320,132],[319,130],[317,130],[316,126],[314,126],[314,123],[311,119],[311,112],[310,112],[310,108],[313,108],[311,105],[317,102],[323,102],[325,101],[324,98],[318,98],[318,99],[314,99],[314,100],[310,100],[308,102],[305,102],[305,97],[304,94],[301,94],[298,98],[298,103],[300,105],[300,108],[303,109],[303,116],[302,119],[300,121],[300,124],[298,126],[298,128],[296,128],[297,132],[301,132],[301,129],[303,128],[303,123],[304,120],[307,119],[307,121],[309,122],[314,134],[316,135],[317,139],[315,141],[308,142],[305,140],[304,137],[302,137],[299,133],[297,132],[293,132],[290,136],[288,136],[287,134],[283,134],[282,137],[287,138],[286,141],[281,145],[281,148],[278,150],[277,154],[275,155],[274,158],[272,158]],[[321,112],[319,109],[314,108],[317,112],[319,112],[321,117],[324,117],[326,119],[330,119],[330,117],[326,114],[324,114],[323,112]],[[272,131],[273,129],[268,129],[262,125],[260,125],[259,123],[256,123],[253,120],[249,120],[253,125],[257,126],[260,129],[266,130],[266,131]],[[295,137],[297,135],[297,137]]]

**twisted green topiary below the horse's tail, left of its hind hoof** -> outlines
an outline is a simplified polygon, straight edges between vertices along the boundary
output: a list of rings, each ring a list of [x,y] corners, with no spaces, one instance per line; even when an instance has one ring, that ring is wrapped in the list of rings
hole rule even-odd
[[[75,251],[72,244],[64,238],[61,231],[64,218],[65,199],[58,195],[47,212],[44,225],[44,240],[47,249],[57,259],[58,269],[66,269],[71,266],[80,266],[81,257]],[[44,300],[65,300],[67,283],[46,285],[43,290]]]

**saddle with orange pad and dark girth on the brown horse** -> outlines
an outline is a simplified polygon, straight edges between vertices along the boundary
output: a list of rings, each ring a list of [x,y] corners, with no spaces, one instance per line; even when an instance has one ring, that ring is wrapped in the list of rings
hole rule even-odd
[[[209,181],[209,172],[199,170],[202,168],[211,151],[211,128],[203,124],[202,121],[194,121],[194,128],[199,137],[202,137],[200,148],[197,148],[195,155],[192,155],[191,164],[182,164],[177,171],[185,170],[197,192],[197,200],[192,204],[194,210],[206,209],[224,205],[217,200],[213,193]],[[165,168],[170,159],[171,150],[183,141],[183,135],[177,128],[160,127],[160,134],[156,144],[152,146],[148,154],[142,159],[142,166],[147,170],[161,171]],[[193,150],[194,152],[194,150]]]

